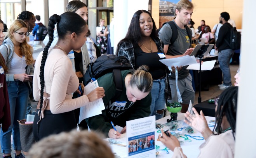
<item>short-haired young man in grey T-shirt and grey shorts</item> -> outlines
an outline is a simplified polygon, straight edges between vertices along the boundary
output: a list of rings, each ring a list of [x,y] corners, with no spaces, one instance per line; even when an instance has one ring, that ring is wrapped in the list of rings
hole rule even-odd
[[[164,43],[164,53],[166,58],[177,58],[185,55],[190,55],[193,48],[189,48],[191,45],[191,40],[189,34],[192,35],[192,30],[189,29],[190,33],[186,29],[186,25],[190,22],[190,18],[193,13],[193,4],[188,0],[180,0],[177,3],[175,14],[176,18],[173,20],[175,26],[177,27],[178,36],[176,40],[171,43],[172,38],[172,27],[169,24],[165,24],[159,32],[159,38]],[[186,112],[188,110],[188,105],[190,100],[194,102],[195,92],[192,87],[192,76],[185,67],[176,67],[178,70],[178,88],[182,98],[182,109],[181,112]],[[176,89],[175,82],[175,68],[172,66],[172,74],[169,75],[169,84],[172,92],[172,100],[168,100],[169,103],[178,101],[178,93]]]

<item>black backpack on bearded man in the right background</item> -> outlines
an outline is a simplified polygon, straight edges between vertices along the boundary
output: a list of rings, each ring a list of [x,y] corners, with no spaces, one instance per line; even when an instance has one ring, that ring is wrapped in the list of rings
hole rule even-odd
[[[225,39],[225,42],[230,46],[232,50],[238,50],[241,46],[241,33],[237,32],[236,27],[230,29],[230,42]]]

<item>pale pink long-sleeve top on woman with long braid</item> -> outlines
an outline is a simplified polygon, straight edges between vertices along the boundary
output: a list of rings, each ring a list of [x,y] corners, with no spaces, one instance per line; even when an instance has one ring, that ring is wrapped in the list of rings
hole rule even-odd
[[[68,56],[59,49],[49,49],[44,68],[44,92],[50,94],[49,105],[53,114],[69,112],[89,103],[86,95],[72,99],[78,89],[79,81],[72,69]],[[36,101],[40,100],[40,65],[41,52],[35,63],[33,78],[33,95]]]

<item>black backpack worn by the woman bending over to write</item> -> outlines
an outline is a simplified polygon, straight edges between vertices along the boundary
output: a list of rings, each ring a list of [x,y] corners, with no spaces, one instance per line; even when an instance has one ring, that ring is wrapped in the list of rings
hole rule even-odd
[[[99,77],[109,72],[113,73],[113,80],[116,86],[116,93],[113,99],[117,99],[122,93],[122,75],[121,70],[133,70],[129,60],[124,56],[117,55],[101,55],[87,66],[84,74],[84,85],[87,85],[92,77],[98,79]],[[118,91],[118,93],[117,93]]]

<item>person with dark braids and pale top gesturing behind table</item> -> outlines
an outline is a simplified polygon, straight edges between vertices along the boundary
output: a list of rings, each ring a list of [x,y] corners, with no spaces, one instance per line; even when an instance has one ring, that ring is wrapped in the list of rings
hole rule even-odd
[[[205,142],[199,147],[199,158],[233,158],[235,153],[235,123],[237,114],[237,94],[238,87],[228,87],[225,89],[216,103],[216,122],[213,131],[209,129],[204,113],[193,108],[195,115],[189,112],[185,113],[186,124],[199,131],[205,139]],[[180,147],[179,141],[171,133],[168,137],[161,129],[162,138],[158,139],[174,153],[172,157],[186,158]],[[214,149],[214,152],[212,152]]]

